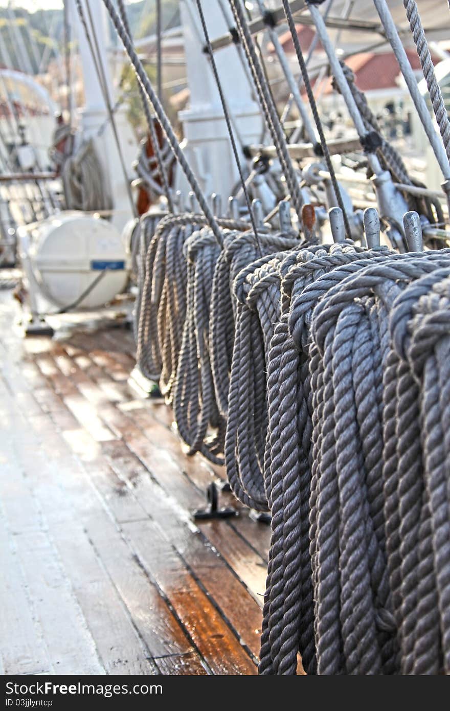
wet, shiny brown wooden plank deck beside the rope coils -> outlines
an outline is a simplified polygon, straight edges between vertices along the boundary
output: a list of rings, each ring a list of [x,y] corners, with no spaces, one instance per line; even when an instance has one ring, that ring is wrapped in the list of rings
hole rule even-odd
[[[193,523],[223,471],[129,389],[129,331],[17,316],[0,291],[0,673],[255,674],[269,527]]]

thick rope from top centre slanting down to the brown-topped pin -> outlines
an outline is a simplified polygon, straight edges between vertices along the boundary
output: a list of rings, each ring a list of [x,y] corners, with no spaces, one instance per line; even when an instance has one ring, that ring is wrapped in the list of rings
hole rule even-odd
[[[242,11],[242,5],[237,0],[230,0],[230,6],[232,14],[235,18],[237,31],[240,35],[245,55],[247,56],[250,71],[252,72],[255,80],[255,86],[257,87],[262,112],[264,114],[264,118],[266,119],[267,126],[269,127],[269,131],[272,134],[272,140],[274,141],[274,146],[276,146],[279,161],[282,164],[282,169],[286,178],[286,183],[292,196],[294,209],[296,210],[301,223],[301,208],[304,204],[304,200],[301,195],[299,181],[294,171],[294,166],[292,165],[291,158],[287,150],[286,137],[284,136],[284,132],[279,123],[277,109],[274,105],[272,94],[268,90],[261,64],[257,58],[255,44]]]

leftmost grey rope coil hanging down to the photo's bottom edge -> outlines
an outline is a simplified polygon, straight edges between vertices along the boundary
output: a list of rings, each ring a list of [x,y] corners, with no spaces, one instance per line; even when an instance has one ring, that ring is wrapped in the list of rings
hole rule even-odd
[[[299,648],[305,670],[311,673],[315,668],[307,523],[311,387],[308,351],[299,352],[289,333],[289,302],[331,269],[355,269],[353,262],[365,264],[383,251],[368,252],[351,244],[323,245],[314,252],[300,252],[298,262],[284,275],[283,313],[272,338],[267,375],[269,429],[264,477],[272,512],[272,538],[259,673],[295,673]]]

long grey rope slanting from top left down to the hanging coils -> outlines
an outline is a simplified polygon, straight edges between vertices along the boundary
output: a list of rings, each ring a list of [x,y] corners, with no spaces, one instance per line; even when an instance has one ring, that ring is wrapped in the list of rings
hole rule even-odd
[[[159,119],[161,127],[163,128],[164,133],[166,134],[168,142],[171,144],[171,149],[173,151],[173,155],[176,157],[178,163],[181,165],[181,168],[183,169],[183,172],[186,175],[186,178],[192,188],[195,198],[197,198],[198,204],[200,205],[200,208],[203,210],[206,220],[208,220],[208,224],[210,225],[210,228],[213,231],[213,234],[215,236],[215,239],[218,242],[218,245],[220,247],[222,247],[223,237],[222,237],[222,233],[220,232],[220,228],[217,223],[217,220],[215,220],[215,217],[214,217],[213,213],[211,212],[208,203],[205,200],[205,196],[203,196],[203,193],[200,189],[197,178],[195,178],[195,175],[193,174],[191,166],[189,166],[188,161],[186,160],[186,156],[183,154],[183,151],[181,150],[180,144],[178,143],[178,139],[176,138],[176,135],[173,132],[173,129],[171,127],[171,122],[168,120],[168,117],[166,116],[166,112],[164,111],[164,108],[161,106],[161,102],[159,101],[158,97],[156,96],[156,92],[154,91],[154,88],[151,85],[151,81],[149,80],[149,77],[146,74],[146,71],[144,70],[141,60],[139,59],[138,55],[136,54],[136,51],[134,50],[134,47],[132,46],[132,42],[127,34],[127,31],[125,30],[122,22],[120,21],[119,15],[117,14],[116,10],[114,9],[112,0],[103,0],[103,3],[105,4],[107,11],[109,12],[109,16],[112,19],[112,23],[114,24],[114,27],[116,28],[117,33],[119,34],[119,37],[122,41],[122,44],[123,44],[125,50],[127,50],[127,55],[129,56],[129,60],[132,62],[132,65],[134,66],[136,75],[139,77],[139,80],[141,80],[141,83],[142,83],[142,86],[144,87],[146,95],[149,97],[151,105],[153,105],[153,107],[154,107],[154,110],[155,110],[156,115]]]

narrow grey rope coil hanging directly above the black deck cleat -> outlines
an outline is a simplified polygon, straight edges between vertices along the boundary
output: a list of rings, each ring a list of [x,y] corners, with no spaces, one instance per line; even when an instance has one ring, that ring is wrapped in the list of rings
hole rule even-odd
[[[248,267],[255,260],[255,252],[259,254],[261,250],[269,255],[277,249],[286,250],[298,245],[296,236],[270,235],[259,230],[258,237],[256,244],[252,232],[224,232],[227,249],[219,251],[210,232],[205,229],[195,232],[185,245],[188,301],[173,410],[178,432],[189,446],[188,454],[201,451],[215,464],[223,464],[224,461],[222,453],[228,388],[224,383],[217,398],[213,353],[219,378],[227,380],[230,360],[227,358],[226,340],[228,338],[230,345],[234,339],[232,307],[227,311],[231,301],[230,267],[233,271],[244,264]],[[216,338],[214,344],[213,333]],[[225,351],[221,348],[224,344]],[[217,374],[216,382],[219,382]],[[218,399],[223,407],[218,404]],[[210,437],[210,428],[215,430],[215,437]]]

